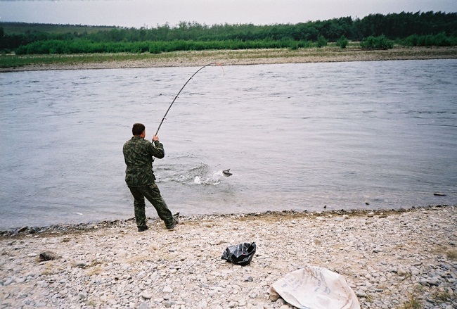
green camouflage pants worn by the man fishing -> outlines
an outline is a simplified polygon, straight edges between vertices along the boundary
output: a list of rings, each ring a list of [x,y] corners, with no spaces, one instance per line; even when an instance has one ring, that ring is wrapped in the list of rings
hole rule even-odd
[[[157,215],[165,222],[167,227],[173,224],[172,212],[168,209],[167,203],[165,203],[160,195],[157,184],[150,184],[146,187],[129,187],[129,189],[134,196],[134,210],[137,227],[146,227],[145,197],[153,204],[155,210],[157,210]]]

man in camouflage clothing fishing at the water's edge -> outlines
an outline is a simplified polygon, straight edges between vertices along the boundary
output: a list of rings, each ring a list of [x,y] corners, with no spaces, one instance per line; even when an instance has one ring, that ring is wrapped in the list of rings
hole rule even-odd
[[[174,229],[178,224],[177,216],[174,217],[168,209],[167,203],[160,195],[159,188],[155,184],[153,172],[153,157],[163,158],[165,151],[157,136],[150,142],[146,137],[146,127],[141,123],[135,123],[131,129],[134,135],[124,144],[124,160],[127,164],[125,170],[125,182],[134,196],[134,210],[138,232],[148,229],[146,225],[146,210],[144,198],[148,198],[153,204],[157,215],[165,222],[167,229]]]

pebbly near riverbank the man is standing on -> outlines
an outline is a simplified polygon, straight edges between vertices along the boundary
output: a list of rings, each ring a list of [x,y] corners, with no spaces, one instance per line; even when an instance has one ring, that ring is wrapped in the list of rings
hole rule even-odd
[[[267,290],[308,264],[344,276],[361,308],[457,308],[457,206],[181,221],[0,237],[0,308],[289,308]],[[250,265],[221,260],[252,241]]]

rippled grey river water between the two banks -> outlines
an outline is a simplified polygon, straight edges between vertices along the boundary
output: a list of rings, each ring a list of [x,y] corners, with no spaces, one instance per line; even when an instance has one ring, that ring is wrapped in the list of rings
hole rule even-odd
[[[1,73],[0,228],[133,217],[122,145],[196,70]],[[455,205],[456,89],[456,60],[207,67],[160,129],[157,183],[183,215]]]

